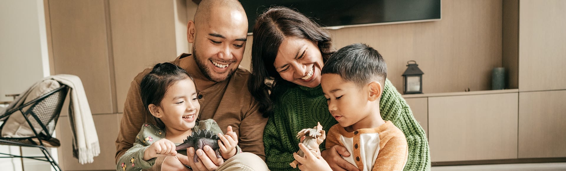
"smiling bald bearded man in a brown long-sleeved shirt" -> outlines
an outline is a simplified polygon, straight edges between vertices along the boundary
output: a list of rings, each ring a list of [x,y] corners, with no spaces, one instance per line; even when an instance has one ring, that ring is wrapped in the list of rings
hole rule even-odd
[[[201,106],[198,118],[215,119],[223,132],[231,126],[244,153],[224,161],[212,149],[194,151],[191,147],[187,156],[196,152],[199,163],[184,155],[158,157],[152,170],[185,169],[184,165],[193,170],[267,170],[262,140],[267,118],[258,112],[258,102],[247,89],[250,72],[239,67],[246,46],[247,25],[246,13],[238,1],[201,1],[194,21],[187,24],[192,54],[181,54],[171,61],[195,80]],[[116,161],[132,147],[141,125],[153,123],[139,90],[141,79],[149,71],[151,68],[140,72],[130,85],[116,139]]]

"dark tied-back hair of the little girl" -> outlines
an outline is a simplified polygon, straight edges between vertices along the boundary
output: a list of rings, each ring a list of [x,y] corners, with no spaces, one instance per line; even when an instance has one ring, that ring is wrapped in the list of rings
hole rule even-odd
[[[194,80],[191,75],[188,75],[187,71],[169,62],[157,63],[153,66],[151,72],[141,79],[141,102],[143,102],[144,108],[147,114],[149,114],[149,117],[153,118],[155,125],[160,129],[164,129],[165,124],[161,121],[161,119],[153,116],[149,112],[149,104],[161,106],[161,100],[163,100],[163,97],[169,87],[177,83],[179,80],[184,79],[191,79],[194,83]]]

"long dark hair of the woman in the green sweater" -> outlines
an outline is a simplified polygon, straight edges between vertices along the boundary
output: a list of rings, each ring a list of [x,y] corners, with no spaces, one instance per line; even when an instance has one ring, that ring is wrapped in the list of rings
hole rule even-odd
[[[254,26],[248,89],[259,101],[259,110],[263,113],[263,117],[273,113],[272,101],[280,93],[296,85],[282,79],[273,66],[279,46],[285,37],[318,42],[323,62],[336,51],[332,46],[330,33],[297,11],[287,7],[271,7],[259,15]]]

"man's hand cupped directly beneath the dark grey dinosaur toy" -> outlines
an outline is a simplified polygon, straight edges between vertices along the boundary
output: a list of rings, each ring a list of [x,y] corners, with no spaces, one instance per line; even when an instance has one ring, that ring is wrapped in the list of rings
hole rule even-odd
[[[224,163],[224,159],[216,157],[216,152],[211,147],[204,146],[203,149],[204,151],[202,149],[196,150],[198,162],[194,163],[195,148],[187,148],[188,160],[180,159],[181,163],[191,166],[192,170],[216,170],[218,166]]]

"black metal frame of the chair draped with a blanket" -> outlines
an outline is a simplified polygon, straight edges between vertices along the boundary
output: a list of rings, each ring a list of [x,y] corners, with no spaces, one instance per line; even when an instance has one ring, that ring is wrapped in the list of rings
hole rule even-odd
[[[61,168],[59,167],[57,162],[51,156],[51,153],[49,153],[48,149],[45,147],[45,144],[42,142],[42,140],[49,140],[49,139],[53,138],[52,134],[53,134],[53,131],[54,131],[54,126],[57,124],[59,114],[61,114],[61,109],[63,108],[63,103],[65,102],[67,92],[68,92],[68,87],[64,84],[61,84],[61,87],[54,89],[53,91],[50,91],[48,93],[45,93],[45,95],[37,97],[36,99],[29,101],[29,102],[19,106],[18,108],[7,111],[5,114],[0,116],[0,121],[5,121],[0,126],[0,130],[2,130],[4,125],[6,125],[6,119],[9,116],[11,116],[11,114],[13,114],[16,111],[22,112],[22,115],[24,116],[25,121],[27,121],[29,127],[31,127],[31,130],[33,131],[33,134],[35,134],[34,136],[29,136],[29,137],[24,137],[24,138],[0,137],[0,144],[1,145],[20,146],[20,147],[37,147],[37,148],[40,148],[41,152],[44,154],[44,156],[20,156],[22,154],[12,155],[12,154],[7,154],[7,153],[0,153],[0,155],[6,155],[6,156],[0,156],[0,158],[19,157],[19,158],[27,158],[27,159],[47,161],[47,162],[49,162],[49,164],[51,164],[53,166],[53,168],[55,170],[61,170]],[[56,98],[57,96],[59,96],[59,98],[62,98],[62,99],[60,99],[61,101],[56,103],[56,106],[55,106],[53,113],[50,113],[50,116],[48,116],[49,122],[47,122],[47,123],[54,122],[53,126],[50,126],[50,129],[52,129],[52,130],[49,130],[48,127],[46,127],[45,123],[42,122],[40,118],[38,118],[38,115],[35,112],[33,112],[33,109],[35,109],[35,107],[38,104],[40,104],[40,102],[42,102],[42,101],[46,100],[48,97],[52,97],[52,96],[55,96],[53,98]],[[26,108],[27,106],[29,106],[29,108],[24,110],[24,108]],[[41,126],[41,128],[43,130],[40,131],[40,132],[37,132],[35,130],[32,122],[28,118],[28,116],[32,116],[36,120],[36,122]],[[51,127],[53,127],[53,128],[51,128]],[[37,139],[37,142],[39,142],[39,143],[35,142],[33,139]]]

